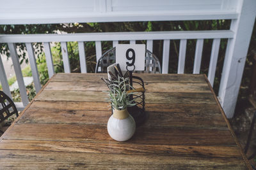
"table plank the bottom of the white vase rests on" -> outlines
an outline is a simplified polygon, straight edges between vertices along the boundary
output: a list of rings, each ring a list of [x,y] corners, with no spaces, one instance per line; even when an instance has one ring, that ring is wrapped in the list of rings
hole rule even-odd
[[[42,131],[42,129],[44,129]],[[54,134],[54,135],[52,135]],[[106,125],[15,124],[3,139],[118,143]],[[137,127],[127,143],[138,145],[236,145],[228,130],[183,127]]]

